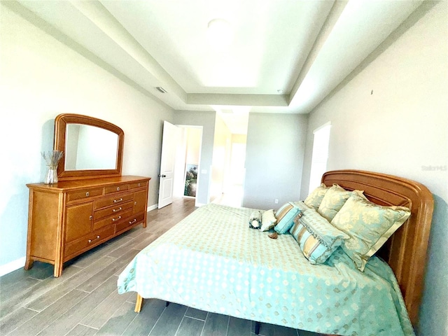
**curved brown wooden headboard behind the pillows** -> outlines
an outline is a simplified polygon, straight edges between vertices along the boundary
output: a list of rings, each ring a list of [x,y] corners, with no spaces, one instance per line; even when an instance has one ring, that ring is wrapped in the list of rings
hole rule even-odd
[[[364,195],[379,205],[400,205],[411,209],[411,216],[377,254],[393,269],[413,325],[419,317],[423,291],[433,195],[421,183],[397,176],[360,170],[335,170],[322,176],[325,186],[337,183],[347,190],[364,190]]]

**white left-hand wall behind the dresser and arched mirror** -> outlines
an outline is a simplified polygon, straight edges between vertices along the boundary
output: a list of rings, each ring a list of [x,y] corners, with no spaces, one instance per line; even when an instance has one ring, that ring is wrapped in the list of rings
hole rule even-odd
[[[153,177],[151,206],[157,203],[162,120],[172,120],[174,111],[31,25],[3,1],[0,6],[0,267],[5,269],[25,257],[25,184],[43,181],[40,152],[52,149],[55,116],[79,113],[123,128],[123,174]]]

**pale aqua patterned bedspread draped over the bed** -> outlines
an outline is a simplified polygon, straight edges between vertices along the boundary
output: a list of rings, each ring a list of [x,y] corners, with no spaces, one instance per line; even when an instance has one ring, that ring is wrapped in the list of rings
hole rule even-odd
[[[311,265],[291,235],[248,228],[253,210],[197,209],[136,255],[118,292],[314,332],[414,335],[386,262],[373,257],[360,272],[338,248]]]

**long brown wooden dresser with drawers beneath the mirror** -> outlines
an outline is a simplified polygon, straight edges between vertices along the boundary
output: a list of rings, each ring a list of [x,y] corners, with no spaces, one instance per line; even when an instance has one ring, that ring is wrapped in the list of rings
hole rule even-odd
[[[62,265],[76,255],[143,224],[146,228],[148,177],[114,176],[27,184],[27,261]]]

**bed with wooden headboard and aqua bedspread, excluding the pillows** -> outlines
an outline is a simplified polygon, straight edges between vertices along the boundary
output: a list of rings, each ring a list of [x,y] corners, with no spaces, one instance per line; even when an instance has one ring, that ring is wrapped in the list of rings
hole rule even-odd
[[[120,274],[118,292],[137,292],[136,311],[152,297],[324,334],[414,335],[433,211],[429,190],[357,170],[327,172],[322,183],[410,210],[363,272],[341,246],[311,265],[292,235],[270,239],[248,228],[254,209],[208,204],[142,250]]]

